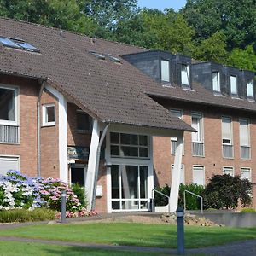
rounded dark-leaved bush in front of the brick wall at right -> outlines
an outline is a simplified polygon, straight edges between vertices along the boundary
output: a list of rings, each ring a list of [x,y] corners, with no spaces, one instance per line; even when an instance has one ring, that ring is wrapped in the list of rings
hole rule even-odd
[[[236,208],[238,200],[247,207],[252,202],[252,184],[239,176],[213,175],[203,193],[205,208]]]

